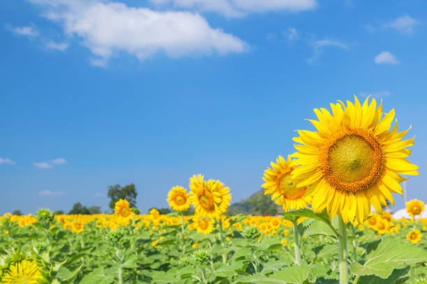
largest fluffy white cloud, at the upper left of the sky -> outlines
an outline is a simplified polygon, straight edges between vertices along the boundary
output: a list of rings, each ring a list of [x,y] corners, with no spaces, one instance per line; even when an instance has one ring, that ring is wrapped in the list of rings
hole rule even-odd
[[[45,17],[62,25],[68,36],[89,47],[93,65],[126,52],[141,61],[155,54],[170,57],[244,52],[245,42],[209,26],[190,12],[158,12],[101,0],[30,0],[46,8]]]

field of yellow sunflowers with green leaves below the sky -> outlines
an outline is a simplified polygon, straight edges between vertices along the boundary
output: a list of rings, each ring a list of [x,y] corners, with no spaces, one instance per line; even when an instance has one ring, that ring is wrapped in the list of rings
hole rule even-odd
[[[230,189],[203,175],[170,190],[167,215],[123,199],[110,215],[5,214],[1,283],[427,284],[424,203],[408,202],[408,219],[383,211],[419,174],[409,129],[369,98],[315,114],[297,152],[264,172],[279,216],[227,215]]]

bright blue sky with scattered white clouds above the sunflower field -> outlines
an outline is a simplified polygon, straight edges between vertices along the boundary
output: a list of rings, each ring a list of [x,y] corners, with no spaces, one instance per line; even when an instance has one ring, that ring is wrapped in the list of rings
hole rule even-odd
[[[427,6],[384,3],[2,1],[0,214],[107,210],[130,182],[146,212],[197,173],[239,201],[314,108],[353,95],[412,125],[407,196],[427,201]]]

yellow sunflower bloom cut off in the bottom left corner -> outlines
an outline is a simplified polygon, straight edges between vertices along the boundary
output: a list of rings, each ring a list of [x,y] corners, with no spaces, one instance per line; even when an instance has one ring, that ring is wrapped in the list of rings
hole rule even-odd
[[[37,262],[34,260],[21,260],[8,267],[1,277],[1,283],[4,284],[37,284],[38,280],[43,278]]]

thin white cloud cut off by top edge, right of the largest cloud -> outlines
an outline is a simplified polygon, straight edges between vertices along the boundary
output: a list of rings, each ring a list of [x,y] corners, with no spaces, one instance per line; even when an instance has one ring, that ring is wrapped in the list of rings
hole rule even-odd
[[[150,0],[158,5],[172,4],[178,8],[208,11],[225,17],[243,17],[249,13],[288,10],[299,12],[317,6],[315,0]]]

